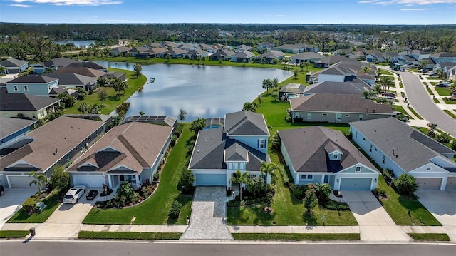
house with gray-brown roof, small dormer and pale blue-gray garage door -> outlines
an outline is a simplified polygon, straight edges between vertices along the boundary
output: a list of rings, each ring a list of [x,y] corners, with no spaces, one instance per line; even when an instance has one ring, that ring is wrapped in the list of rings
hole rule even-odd
[[[375,190],[379,172],[340,131],[321,126],[279,130],[280,150],[295,184]]]

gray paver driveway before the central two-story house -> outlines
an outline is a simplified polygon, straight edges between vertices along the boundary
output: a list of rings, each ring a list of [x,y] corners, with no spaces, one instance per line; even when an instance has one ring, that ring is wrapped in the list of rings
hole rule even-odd
[[[190,225],[181,240],[233,240],[226,225],[224,187],[197,187]]]

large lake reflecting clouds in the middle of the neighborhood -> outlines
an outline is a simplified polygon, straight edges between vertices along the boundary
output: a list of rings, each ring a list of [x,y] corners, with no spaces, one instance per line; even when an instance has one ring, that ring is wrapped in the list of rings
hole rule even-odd
[[[96,61],[103,66],[133,70],[135,63]],[[142,65],[147,77],[142,92],[128,99],[127,116],[176,116],[180,109],[187,111],[186,121],[197,117],[224,117],[226,113],[242,110],[264,91],[266,78],[284,81],[290,71],[273,68],[239,68],[228,66],[191,66],[152,64]],[[154,83],[149,79],[155,78]],[[284,113],[285,116],[286,113]]]

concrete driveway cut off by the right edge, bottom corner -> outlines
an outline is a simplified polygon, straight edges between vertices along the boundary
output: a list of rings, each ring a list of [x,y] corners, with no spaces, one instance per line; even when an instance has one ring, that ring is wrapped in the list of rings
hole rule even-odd
[[[456,189],[418,190],[418,200],[442,223],[452,241],[456,241]]]

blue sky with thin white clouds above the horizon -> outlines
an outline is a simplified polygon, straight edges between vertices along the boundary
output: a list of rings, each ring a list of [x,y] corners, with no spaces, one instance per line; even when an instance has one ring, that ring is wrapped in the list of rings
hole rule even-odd
[[[0,0],[1,22],[456,24],[456,0]]]

